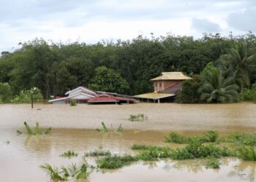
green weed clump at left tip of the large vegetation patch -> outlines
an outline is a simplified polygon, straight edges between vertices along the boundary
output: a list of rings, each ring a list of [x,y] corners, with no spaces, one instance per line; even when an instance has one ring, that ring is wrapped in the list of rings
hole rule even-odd
[[[137,161],[138,159],[136,157],[133,157],[131,155],[123,155],[123,156],[107,156],[102,159],[97,160],[97,165],[99,168],[104,169],[117,169],[120,167],[123,167],[124,165],[129,165],[132,162]]]

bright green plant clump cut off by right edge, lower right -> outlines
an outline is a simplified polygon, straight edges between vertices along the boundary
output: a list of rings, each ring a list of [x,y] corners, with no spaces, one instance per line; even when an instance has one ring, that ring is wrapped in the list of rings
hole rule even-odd
[[[238,149],[238,157],[244,160],[256,161],[255,146],[241,146]]]

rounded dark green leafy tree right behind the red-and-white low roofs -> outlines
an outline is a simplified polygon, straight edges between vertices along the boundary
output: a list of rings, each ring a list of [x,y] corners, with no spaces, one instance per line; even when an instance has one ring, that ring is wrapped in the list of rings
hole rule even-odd
[[[95,76],[89,87],[93,90],[118,93],[126,93],[129,89],[127,81],[120,74],[105,66],[95,69]]]

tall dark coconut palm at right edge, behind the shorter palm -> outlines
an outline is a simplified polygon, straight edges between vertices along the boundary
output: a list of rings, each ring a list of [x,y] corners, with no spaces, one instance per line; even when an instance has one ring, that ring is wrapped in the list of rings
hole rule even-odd
[[[249,87],[249,71],[256,68],[256,56],[249,55],[245,44],[238,43],[236,48],[231,48],[227,55],[219,59],[219,63],[225,74],[240,85],[241,92],[244,92],[244,86]]]

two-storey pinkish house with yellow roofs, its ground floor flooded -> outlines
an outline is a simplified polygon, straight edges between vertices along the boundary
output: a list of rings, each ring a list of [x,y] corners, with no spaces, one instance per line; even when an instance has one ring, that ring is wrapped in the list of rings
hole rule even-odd
[[[181,72],[162,72],[160,76],[151,79],[154,83],[154,92],[135,95],[141,101],[151,102],[171,102],[176,96],[176,92],[181,89],[184,80],[191,79]]]

